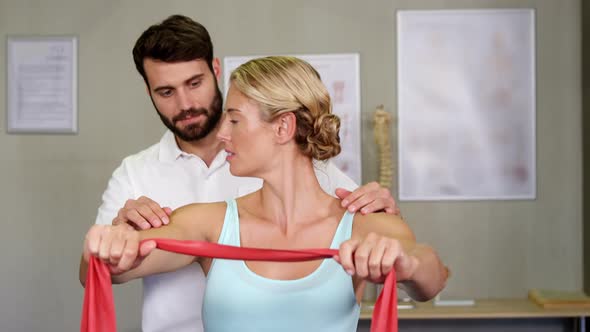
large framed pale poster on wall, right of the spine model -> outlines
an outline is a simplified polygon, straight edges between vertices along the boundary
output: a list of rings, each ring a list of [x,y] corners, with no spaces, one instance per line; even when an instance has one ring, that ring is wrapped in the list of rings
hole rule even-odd
[[[534,12],[398,12],[401,200],[534,199]]]

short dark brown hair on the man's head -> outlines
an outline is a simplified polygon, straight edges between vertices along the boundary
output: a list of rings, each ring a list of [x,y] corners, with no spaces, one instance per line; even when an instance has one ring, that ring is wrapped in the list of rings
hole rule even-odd
[[[144,31],[133,47],[133,61],[145,83],[145,58],[164,62],[203,59],[213,72],[213,44],[203,25],[182,15],[172,15]]]

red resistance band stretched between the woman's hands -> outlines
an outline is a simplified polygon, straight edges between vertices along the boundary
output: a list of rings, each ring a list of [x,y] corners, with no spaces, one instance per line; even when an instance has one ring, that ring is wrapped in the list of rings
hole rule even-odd
[[[250,261],[301,262],[332,258],[335,249],[274,250],[226,246],[202,241],[152,239],[156,248],[180,254]],[[81,332],[115,332],[117,322],[111,274],[104,262],[92,256],[88,263]],[[397,332],[395,271],[391,270],[373,309],[371,332]]]

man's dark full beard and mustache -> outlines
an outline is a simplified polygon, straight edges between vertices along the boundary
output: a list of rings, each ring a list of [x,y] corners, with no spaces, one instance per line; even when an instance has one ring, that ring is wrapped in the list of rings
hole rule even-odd
[[[152,103],[153,103],[153,100],[152,100]],[[219,88],[216,87],[215,88],[215,97],[213,98],[213,101],[209,105],[208,110],[204,107],[189,108],[187,110],[182,110],[182,112],[180,112],[180,114],[178,114],[177,116],[172,118],[172,120],[170,120],[167,117],[165,117],[162,113],[160,113],[160,111],[156,107],[155,103],[154,103],[154,107],[156,108],[156,112],[160,116],[162,123],[164,123],[164,125],[168,129],[170,129],[170,131],[172,133],[174,133],[175,136],[177,136],[178,138],[180,138],[181,140],[183,140],[185,142],[192,142],[192,141],[198,141],[201,138],[206,137],[207,135],[209,135],[209,133],[213,129],[215,129],[215,127],[219,123],[219,120],[221,119],[222,103],[223,103],[223,100],[221,97],[221,91],[219,91]],[[193,124],[190,124],[182,129],[176,127],[176,122],[186,119],[187,116],[199,116],[199,115],[203,115],[205,117],[205,119],[201,123],[193,123]]]

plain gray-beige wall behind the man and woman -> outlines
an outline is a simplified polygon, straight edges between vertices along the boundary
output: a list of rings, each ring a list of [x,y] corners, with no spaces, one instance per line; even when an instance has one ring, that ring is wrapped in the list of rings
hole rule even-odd
[[[359,52],[366,182],[378,167],[372,112],[396,111],[396,10],[512,7],[536,9],[537,199],[401,204],[450,265],[446,294],[476,298],[582,287],[580,0],[1,0],[2,38],[75,34],[80,46],[79,134],[0,131],[0,330],[78,328],[78,260],[100,195],[120,160],[163,132],[130,55],[148,25],[189,15],[210,29],[220,57]],[[0,80],[0,128],[5,91]],[[122,331],[137,329],[138,286],[117,287]]]

